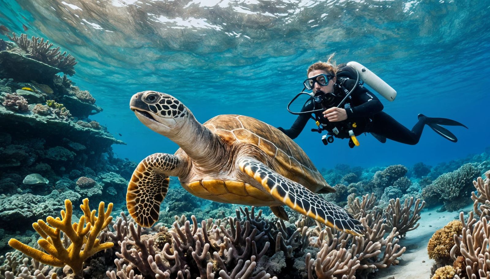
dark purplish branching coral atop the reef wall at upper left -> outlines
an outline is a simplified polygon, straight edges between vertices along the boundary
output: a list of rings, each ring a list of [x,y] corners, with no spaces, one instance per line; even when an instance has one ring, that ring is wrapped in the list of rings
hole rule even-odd
[[[59,46],[51,48],[53,47],[52,43],[49,43],[49,41],[44,42],[44,38],[41,39],[34,36],[29,40],[27,39],[26,34],[21,34],[21,37],[17,37],[17,35],[13,33],[13,37],[8,36],[8,38],[17,43],[30,58],[57,67],[70,76],[75,74],[73,68],[73,66],[77,64],[75,58],[71,54],[66,55],[66,51],[61,53]],[[39,41],[40,39],[41,41]]]

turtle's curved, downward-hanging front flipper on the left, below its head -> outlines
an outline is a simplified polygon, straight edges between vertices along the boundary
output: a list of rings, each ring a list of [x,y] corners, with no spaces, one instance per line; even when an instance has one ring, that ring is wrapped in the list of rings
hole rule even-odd
[[[169,188],[169,176],[177,175],[182,163],[178,155],[154,153],[138,164],[127,186],[126,206],[140,226],[151,227],[158,221],[160,204]]]

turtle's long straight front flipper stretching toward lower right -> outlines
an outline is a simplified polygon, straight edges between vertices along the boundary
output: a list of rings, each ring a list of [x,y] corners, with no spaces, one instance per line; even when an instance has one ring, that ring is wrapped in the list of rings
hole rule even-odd
[[[324,200],[254,158],[241,157],[237,162],[242,172],[257,180],[275,199],[282,201],[293,210],[348,234],[364,235],[361,222],[338,205]]]

